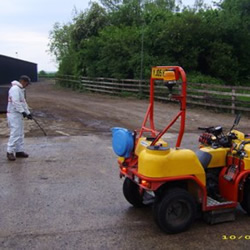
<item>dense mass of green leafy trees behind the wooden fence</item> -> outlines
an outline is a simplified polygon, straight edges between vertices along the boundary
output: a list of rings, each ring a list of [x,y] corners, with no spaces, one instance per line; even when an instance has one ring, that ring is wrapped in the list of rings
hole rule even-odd
[[[217,0],[219,1],[219,0]],[[237,84],[250,78],[249,0],[101,0],[72,23],[55,24],[50,52],[65,74],[149,77],[153,65],[180,65]]]

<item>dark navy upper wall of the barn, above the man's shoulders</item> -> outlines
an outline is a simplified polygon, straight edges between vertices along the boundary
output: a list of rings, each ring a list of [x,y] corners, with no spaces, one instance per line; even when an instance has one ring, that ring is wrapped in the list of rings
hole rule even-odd
[[[21,75],[27,75],[32,82],[37,82],[37,64],[0,55],[0,85],[10,84]]]

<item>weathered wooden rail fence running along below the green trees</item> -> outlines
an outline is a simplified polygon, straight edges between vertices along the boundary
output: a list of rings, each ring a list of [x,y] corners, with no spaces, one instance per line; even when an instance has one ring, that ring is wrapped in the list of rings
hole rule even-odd
[[[138,96],[147,98],[149,81],[113,78],[75,78],[73,76],[57,76],[56,82],[64,87],[91,91],[110,95]],[[212,84],[188,83],[187,104],[199,107],[246,112],[250,114],[250,87],[221,86]],[[178,90],[178,86],[177,86]],[[162,82],[156,82],[155,99],[172,101],[168,88]]]

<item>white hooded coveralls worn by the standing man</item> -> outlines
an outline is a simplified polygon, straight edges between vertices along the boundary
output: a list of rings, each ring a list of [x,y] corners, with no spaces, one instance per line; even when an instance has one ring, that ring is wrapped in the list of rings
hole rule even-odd
[[[13,81],[11,84],[7,107],[7,118],[10,128],[7,152],[15,154],[16,152],[23,152],[24,129],[22,113],[25,112],[29,115],[30,111],[25,100],[23,85],[18,81]]]

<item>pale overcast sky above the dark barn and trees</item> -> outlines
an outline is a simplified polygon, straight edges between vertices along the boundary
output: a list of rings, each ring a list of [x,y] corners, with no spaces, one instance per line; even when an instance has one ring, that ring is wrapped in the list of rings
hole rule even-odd
[[[192,5],[195,0],[182,0]],[[205,0],[211,4],[212,0]],[[55,22],[71,21],[74,8],[88,8],[89,0],[0,0],[0,54],[35,62],[38,70],[56,71],[48,50]]]

